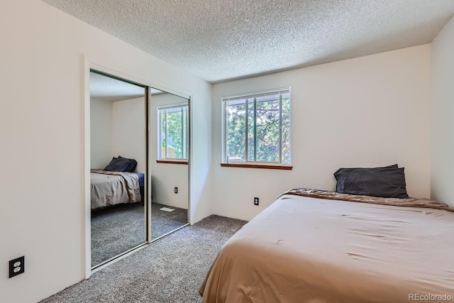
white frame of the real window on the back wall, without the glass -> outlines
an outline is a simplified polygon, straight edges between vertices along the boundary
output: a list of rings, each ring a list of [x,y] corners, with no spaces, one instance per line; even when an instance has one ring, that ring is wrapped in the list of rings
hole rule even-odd
[[[249,160],[249,126],[248,126],[248,106],[249,106],[249,99],[253,99],[253,106],[256,109],[257,98],[263,97],[272,94],[279,94],[279,161],[275,162],[267,162],[267,161],[256,161],[256,160]],[[290,148],[290,155],[289,155],[289,162],[282,162],[282,94],[289,94],[289,148]],[[239,99],[245,99],[245,153],[244,158],[245,160],[231,160],[228,159],[228,101],[234,101]],[[245,94],[237,94],[231,96],[225,96],[221,98],[221,108],[222,108],[222,160],[221,166],[222,167],[254,167],[254,168],[274,168],[274,169],[282,169],[282,170],[292,170],[292,92],[291,87],[283,87],[279,89],[267,89],[258,92],[249,92]],[[254,124],[257,121],[257,116],[255,116]],[[254,142],[254,149],[255,149],[255,158],[256,158],[256,146],[257,141],[255,137]]]

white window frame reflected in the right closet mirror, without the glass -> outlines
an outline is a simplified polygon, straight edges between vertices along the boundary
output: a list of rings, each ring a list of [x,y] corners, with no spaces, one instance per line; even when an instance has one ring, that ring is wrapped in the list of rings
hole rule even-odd
[[[186,108],[186,119],[184,123],[184,108]],[[169,109],[181,109],[182,111],[182,158],[168,158],[168,133],[167,133],[167,111]],[[166,141],[165,141],[165,158],[162,157],[162,111],[165,111],[166,117]],[[184,125],[185,124],[185,125]],[[186,130],[186,133],[184,133]],[[189,102],[182,102],[177,104],[169,104],[165,106],[158,106],[157,107],[157,160],[158,163],[172,163],[175,162],[177,164],[187,164],[188,162],[188,151],[189,151]]]

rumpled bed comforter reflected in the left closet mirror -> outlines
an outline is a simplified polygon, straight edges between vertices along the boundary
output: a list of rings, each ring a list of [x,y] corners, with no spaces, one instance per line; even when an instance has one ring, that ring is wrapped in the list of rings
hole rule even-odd
[[[91,170],[92,209],[140,202],[138,175],[129,172]]]

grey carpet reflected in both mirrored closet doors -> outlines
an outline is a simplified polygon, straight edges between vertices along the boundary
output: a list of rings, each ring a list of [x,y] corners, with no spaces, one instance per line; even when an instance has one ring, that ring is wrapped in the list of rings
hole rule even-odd
[[[151,204],[151,237],[158,238],[187,223],[187,209]],[[120,204],[92,212],[92,266],[145,243],[145,215],[140,203]]]

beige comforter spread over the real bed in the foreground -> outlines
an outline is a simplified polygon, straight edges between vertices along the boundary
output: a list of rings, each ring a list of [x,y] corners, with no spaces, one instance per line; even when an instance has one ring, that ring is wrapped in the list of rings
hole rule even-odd
[[[279,197],[223,246],[200,287],[203,302],[454,301],[448,206],[336,195]]]

